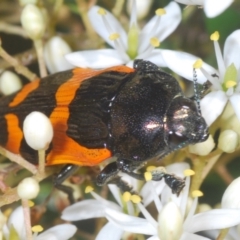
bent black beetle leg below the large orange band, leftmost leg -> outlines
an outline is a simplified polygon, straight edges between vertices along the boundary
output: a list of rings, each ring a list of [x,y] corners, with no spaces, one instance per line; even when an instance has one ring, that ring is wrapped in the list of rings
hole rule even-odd
[[[53,177],[53,185],[55,188],[59,189],[62,192],[65,192],[68,195],[68,199],[70,203],[74,203],[74,197],[73,197],[73,189],[69,186],[65,186],[62,183],[70,177],[76,170],[78,169],[77,165],[73,164],[67,164],[64,166],[61,171],[54,175]]]

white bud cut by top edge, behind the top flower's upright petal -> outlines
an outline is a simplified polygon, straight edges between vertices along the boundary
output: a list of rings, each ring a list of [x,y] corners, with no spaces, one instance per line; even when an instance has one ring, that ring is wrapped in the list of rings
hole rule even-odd
[[[128,0],[127,1],[127,12],[131,15],[132,12],[132,3],[135,0]],[[152,0],[136,0],[137,5],[137,18],[143,19],[149,13],[150,7],[152,6]]]

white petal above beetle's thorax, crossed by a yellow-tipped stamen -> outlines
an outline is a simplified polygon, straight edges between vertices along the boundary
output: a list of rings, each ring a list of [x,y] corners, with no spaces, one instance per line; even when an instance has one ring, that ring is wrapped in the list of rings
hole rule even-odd
[[[193,80],[193,64],[199,58],[189,53],[171,50],[162,50],[161,54],[168,68],[188,80]],[[209,74],[214,74],[217,72],[213,67],[206,63],[203,63],[203,68],[208,71]],[[198,83],[202,84],[206,80],[207,79],[202,72],[197,70]]]

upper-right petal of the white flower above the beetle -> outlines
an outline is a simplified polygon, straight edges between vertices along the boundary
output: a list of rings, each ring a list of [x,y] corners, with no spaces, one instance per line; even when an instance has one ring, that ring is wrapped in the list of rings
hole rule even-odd
[[[150,44],[150,38],[156,37],[160,42],[165,40],[179,25],[181,9],[175,2],[170,2],[165,8],[166,14],[161,16],[160,24],[156,24],[159,16],[154,16],[142,29],[139,37],[139,53],[144,52]]]

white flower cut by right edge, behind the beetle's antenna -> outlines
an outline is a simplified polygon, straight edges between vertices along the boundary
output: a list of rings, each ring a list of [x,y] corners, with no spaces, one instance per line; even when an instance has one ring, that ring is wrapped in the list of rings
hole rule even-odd
[[[240,30],[234,31],[225,41],[223,56],[218,44],[218,32],[212,34],[218,70],[203,63],[197,71],[212,83],[211,92],[201,100],[202,115],[210,126],[223,112],[228,100],[240,120]],[[193,63],[196,57],[187,53],[165,50],[162,57],[169,68],[179,75],[192,80]],[[172,61],[169,58],[172,57]],[[184,59],[184,61],[183,61]]]

